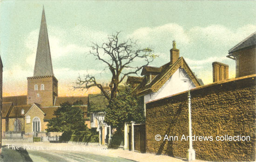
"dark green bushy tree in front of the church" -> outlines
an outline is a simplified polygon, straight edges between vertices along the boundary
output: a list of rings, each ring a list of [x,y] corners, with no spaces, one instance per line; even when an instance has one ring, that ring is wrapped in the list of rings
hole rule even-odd
[[[80,109],[81,101],[70,104],[68,102],[62,103],[53,118],[47,124],[47,132],[63,132],[62,141],[68,141],[71,135],[77,135],[81,131],[88,130],[85,125],[84,112]]]

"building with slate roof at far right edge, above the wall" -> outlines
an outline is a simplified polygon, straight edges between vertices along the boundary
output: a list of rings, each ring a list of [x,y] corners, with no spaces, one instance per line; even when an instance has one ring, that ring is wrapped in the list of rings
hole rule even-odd
[[[236,78],[256,74],[256,32],[231,48],[227,57],[236,60]]]

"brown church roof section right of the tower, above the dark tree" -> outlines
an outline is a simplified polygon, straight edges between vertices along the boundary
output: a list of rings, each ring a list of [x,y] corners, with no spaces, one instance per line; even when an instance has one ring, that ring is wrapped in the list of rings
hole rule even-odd
[[[54,106],[60,106],[60,104],[69,102],[70,104],[73,104],[76,101],[81,100],[83,102],[83,105],[87,105],[87,96],[71,96],[71,97],[56,97]]]

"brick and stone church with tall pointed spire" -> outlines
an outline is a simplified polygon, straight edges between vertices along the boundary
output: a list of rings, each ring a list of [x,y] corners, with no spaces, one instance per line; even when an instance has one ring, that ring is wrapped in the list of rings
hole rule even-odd
[[[46,136],[47,123],[61,103],[81,100],[87,111],[87,97],[58,97],[44,9],[37,45],[34,75],[27,77],[27,96],[3,97],[2,134],[20,132],[23,136]]]

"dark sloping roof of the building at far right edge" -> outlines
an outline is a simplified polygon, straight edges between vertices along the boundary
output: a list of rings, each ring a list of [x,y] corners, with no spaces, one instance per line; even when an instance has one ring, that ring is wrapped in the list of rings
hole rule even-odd
[[[229,54],[254,46],[256,46],[256,32],[252,33],[251,35],[249,35],[249,37],[231,48],[229,50]]]

